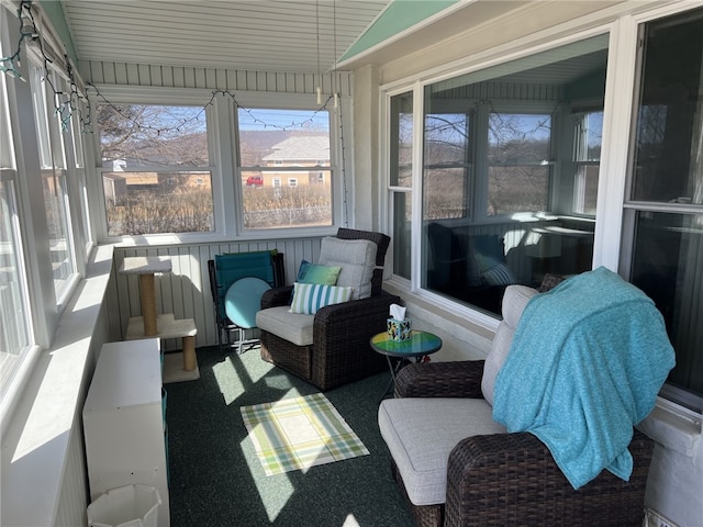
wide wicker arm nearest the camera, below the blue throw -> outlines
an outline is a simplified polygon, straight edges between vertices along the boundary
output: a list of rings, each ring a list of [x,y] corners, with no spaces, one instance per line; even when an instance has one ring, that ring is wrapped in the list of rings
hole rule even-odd
[[[574,491],[549,449],[532,434],[462,439],[449,455],[444,525],[641,525],[652,446],[635,430],[629,482],[603,470]]]

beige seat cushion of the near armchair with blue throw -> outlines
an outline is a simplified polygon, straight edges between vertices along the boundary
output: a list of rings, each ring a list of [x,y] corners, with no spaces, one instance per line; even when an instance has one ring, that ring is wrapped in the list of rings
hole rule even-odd
[[[408,496],[415,505],[445,503],[449,452],[465,437],[503,434],[482,399],[388,399],[378,411]]]

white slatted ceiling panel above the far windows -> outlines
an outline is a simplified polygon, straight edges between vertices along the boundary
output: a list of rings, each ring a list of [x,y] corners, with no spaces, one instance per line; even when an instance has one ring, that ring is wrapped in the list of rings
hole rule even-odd
[[[390,0],[62,0],[79,60],[324,72]]]

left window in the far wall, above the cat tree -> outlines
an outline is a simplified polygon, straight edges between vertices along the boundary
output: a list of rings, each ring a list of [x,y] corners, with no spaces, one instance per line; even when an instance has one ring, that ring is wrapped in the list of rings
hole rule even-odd
[[[109,237],[214,231],[209,112],[99,104]]]

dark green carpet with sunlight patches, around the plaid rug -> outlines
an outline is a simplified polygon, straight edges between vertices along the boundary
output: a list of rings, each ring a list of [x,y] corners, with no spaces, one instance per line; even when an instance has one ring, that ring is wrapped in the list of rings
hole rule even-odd
[[[264,362],[258,349],[198,349],[200,379],[167,384],[172,527],[412,525],[393,482],[377,411],[389,374],[325,392],[369,456],[265,475],[239,406],[317,392]]]

